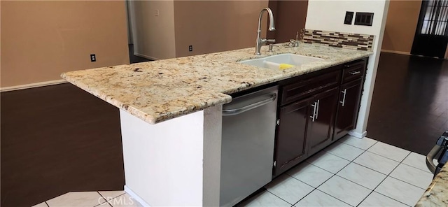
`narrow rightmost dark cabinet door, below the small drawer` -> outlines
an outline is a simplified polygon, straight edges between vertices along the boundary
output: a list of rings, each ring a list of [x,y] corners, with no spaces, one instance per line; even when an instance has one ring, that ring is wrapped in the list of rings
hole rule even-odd
[[[362,83],[360,78],[341,85],[333,141],[342,138],[356,127]]]

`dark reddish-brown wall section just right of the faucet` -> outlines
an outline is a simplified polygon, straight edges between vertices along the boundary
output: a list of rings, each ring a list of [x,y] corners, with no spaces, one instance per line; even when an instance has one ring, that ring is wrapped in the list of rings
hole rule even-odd
[[[269,38],[277,43],[295,39],[297,31],[305,27],[308,1],[269,1],[269,8],[275,15],[275,31],[268,31]]]

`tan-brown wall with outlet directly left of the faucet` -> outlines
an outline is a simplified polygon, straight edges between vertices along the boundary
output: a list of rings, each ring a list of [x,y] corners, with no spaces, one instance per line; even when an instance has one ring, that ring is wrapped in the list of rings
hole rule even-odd
[[[268,1],[174,1],[176,57],[255,47]],[[263,16],[267,19],[267,15]],[[266,21],[265,21],[266,22]],[[266,23],[262,24],[263,36]],[[193,45],[193,52],[188,51]]]

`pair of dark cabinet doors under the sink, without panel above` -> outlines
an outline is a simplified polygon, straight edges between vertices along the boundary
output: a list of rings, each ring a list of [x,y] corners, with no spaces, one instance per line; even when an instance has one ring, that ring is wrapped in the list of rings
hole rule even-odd
[[[280,108],[274,175],[279,175],[332,142],[337,87]]]

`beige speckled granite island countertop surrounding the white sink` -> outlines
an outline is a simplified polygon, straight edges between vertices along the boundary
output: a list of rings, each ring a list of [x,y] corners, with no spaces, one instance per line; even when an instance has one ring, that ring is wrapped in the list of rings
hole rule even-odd
[[[372,55],[372,52],[301,43],[297,48],[262,47],[262,55],[295,53],[323,60],[286,70],[262,69],[237,63],[258,58],[255,48],[154,62],[110,66],[62,73],[62,78],[113,106],[155,124],[229,103],[229,94],[300,76]]]

